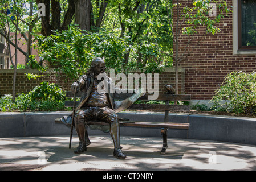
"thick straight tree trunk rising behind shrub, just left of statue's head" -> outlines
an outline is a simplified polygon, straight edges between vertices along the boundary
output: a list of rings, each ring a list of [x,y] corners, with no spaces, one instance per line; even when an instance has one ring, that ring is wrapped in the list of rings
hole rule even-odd
[[[79,28],[91,31],[91,10],[90,0],[75,0],[75,24],[79,24]]]

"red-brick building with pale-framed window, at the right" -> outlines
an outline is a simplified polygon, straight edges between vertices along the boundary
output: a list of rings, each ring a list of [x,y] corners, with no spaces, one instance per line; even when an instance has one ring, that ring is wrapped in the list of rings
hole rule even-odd
[[[181,7],[187,2],[192,1],[182,0]],[[241,70],[250,73],[256,69],[256,42],[247,44],[251,41],[248,32],[256,30],[256,24],[255,27],[253,25],[256,23],[256,1],[226,2],[233,6],[230,7],[233,12],[217,24],[221,31],[206,36],[204,42],[197,46],[186,60],[180,62],[179,67],[185,68],[185,93],[191,94],[193,100],[209,101],[230,72]],[[173,7],[173,22],[174,25],[177,22],[177,7]],[[176,30],[176,27],[173,28]],[[202,31],[203,28],[197,30],[199,34]],[[199,36],[196,39],[199,39]],[[188,39],[181,36],[179,40],[178,49],[184,50]]]

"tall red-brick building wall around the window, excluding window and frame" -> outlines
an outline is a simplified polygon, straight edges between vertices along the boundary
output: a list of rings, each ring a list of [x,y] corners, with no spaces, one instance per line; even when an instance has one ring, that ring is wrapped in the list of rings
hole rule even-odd
[[[173,1],[176,2],[176,1]],[[182,1],[182,5],[188,1]],[[192,1],[190,1],[192,2]],[[232,1],[226,1],[232,5]],[[173,22],[177,21],[177,9],[173,8]],[[233,55],[233,16],[229,13],[217,27],[221,29],[214,35],[206,36],[186,60],[180,63],[185,68],[185,92],[193,100],[210,100],[214,91],[222,84],[225,76],[233,71],[252,72],[256,68],[256,55]],[[175,30],[176,27],[174,27]],[[201,30],[197,30],[200,34]],[[196,37],[198,40],[198,36]],[[194,40],[196,40],[194,39]],[[179,49],[185,48],[187,39],[180,37]],[[192,44],[195,44],[193,41]],[[175,50],[174,50],[175,55]]]

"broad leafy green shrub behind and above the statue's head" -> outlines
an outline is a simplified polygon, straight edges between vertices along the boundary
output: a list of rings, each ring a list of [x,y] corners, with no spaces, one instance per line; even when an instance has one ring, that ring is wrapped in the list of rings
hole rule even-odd
[[[127,73],[138,67],[145,72],[162,71],[157,63],[142,65],[135,64],[136,61],[129,61],[128,64],[124,64],[124,57],[129,49],[135,49],[134,52],[136,50],[143,52],[145,57],[157,56],[159,53],[150,44],[136,44],[133,47],[129,36],[120,37],[104,32],[84,34],[80,28],[70,26],[68,30],[55,31],[54,34],[48,37],[43,35],[35,35],[35,37],[37,40],[36,46],[40,52],[39,56],[44,57],[50,63],[49,68],[64,73],[70,80],[75,80],[86,72],[95,56],[104,57],[107,67],[115,69],[117,73]],[[39,65],[33,59],[31,59],[30,64],[39,68]]]

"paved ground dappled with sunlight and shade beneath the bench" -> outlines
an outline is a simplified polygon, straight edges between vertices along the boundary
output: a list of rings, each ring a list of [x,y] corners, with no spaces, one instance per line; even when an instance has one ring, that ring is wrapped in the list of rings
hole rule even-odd
[[[0,170],[255,170],[256,146],[191,139],[168,139],[160,155],[161,138],[120,137],[127,159],[113,157],[112,139],[91,136],[83,154],[74,154],[78,138],[68,136],[0,138]]]

